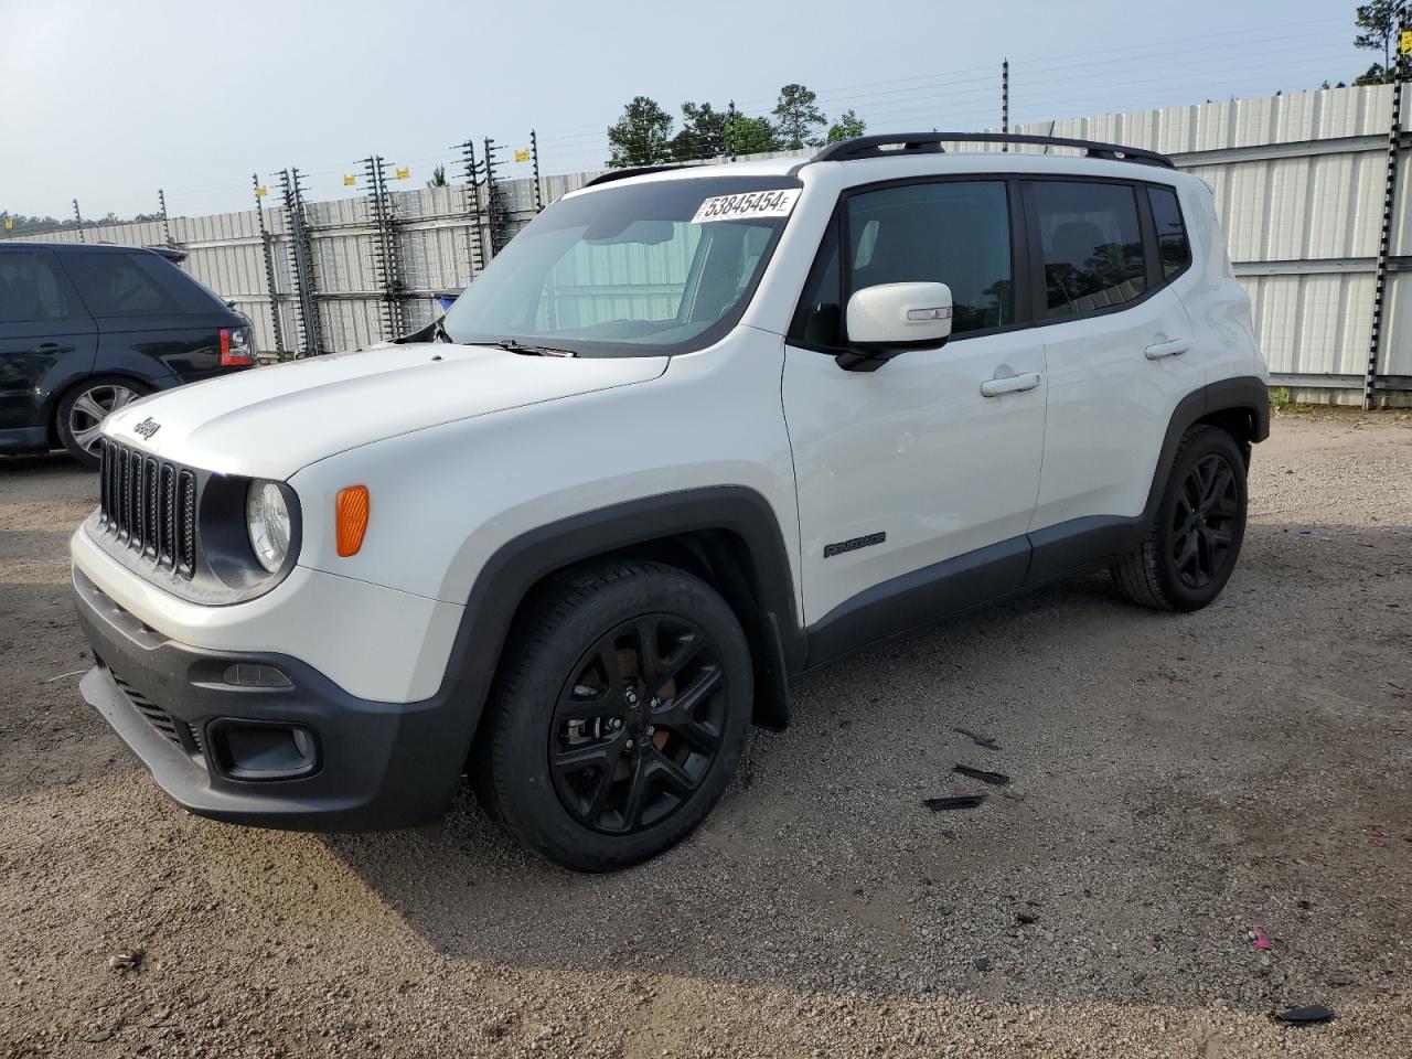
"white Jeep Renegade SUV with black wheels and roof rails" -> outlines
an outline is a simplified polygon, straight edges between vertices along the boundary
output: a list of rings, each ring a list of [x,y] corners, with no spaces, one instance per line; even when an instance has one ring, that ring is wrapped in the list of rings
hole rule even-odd
[[[1265,383],[1161,155],[614,172],[419,335],[113,414],[82,693],[205,816],[408,826],[469,774],[531,849],[620,867],[805,669],[1104,568],[1210,603]]]

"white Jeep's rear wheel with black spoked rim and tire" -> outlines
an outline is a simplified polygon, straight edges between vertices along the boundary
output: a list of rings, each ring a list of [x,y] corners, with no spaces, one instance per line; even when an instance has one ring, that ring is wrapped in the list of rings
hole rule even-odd
[[[1245,459],[1219,426],[1193,426],[1176,446],[1147,541],[1113,565],[1124,596],[1155,610],[1200,610],[1230,580],[1245,538]]]

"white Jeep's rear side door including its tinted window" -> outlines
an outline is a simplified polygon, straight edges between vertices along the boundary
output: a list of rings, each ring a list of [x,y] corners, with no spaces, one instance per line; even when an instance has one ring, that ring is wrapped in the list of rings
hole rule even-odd
[[[1172,412],[1204,385],[1206,369],[1171,287],[1189,263],[1185,239],[1175,244],[1163,216],[1159,251],[1145,182],[1032,179],[1025,202],[1049,378],[1038,578],[1060,572],[1045,542],[1142,513]],[[1055,554],[1062,566],[1069,554]]]

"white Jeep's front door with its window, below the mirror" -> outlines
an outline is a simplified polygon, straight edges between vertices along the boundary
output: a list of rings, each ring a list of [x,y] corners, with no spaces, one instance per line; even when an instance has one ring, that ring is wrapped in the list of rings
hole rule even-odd
[[[810,662],[1025,576],[1045,352],[1015,328],[1017,195],[1004,179],[943,179],[840,203],[784,371]],[[847,297],[912,281],[952,288],[950,340],[843,370]]]

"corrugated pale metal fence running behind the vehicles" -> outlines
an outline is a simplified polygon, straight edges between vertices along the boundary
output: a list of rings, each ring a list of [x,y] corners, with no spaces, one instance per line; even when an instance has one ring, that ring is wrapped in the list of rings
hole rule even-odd
[[[1384,85],[1015,131],[1147,147],[1202,176],[1216,192],[1275,383],[1302,400],[1406,405],[1412,140],[1398,126],[1399,107],[1401,86]],[[186,268],[250,316],[260,349],[356,349],[422,326],[438,297],[469,284],[542,203],[596,175],[497,181],[472,155],[473,184],[387,192],[374,162],[364,198],[304,202],[295,174],[280,208],[168,222]],[[167,229],[86,226],[30,239],[157,246]]]

